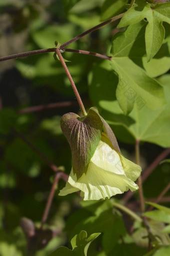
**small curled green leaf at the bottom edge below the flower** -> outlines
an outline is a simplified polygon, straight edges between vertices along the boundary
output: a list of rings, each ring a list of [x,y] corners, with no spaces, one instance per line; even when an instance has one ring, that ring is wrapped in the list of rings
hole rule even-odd
[[[69,250],[67,247],[59,247],[54,252],[49,254],[50,256],[87,256],[87,250],[90,243],[97,238],[100,233],[93,233],[87,237],[87,233],[84,230],[81,230],[71,239],[72,250]]]

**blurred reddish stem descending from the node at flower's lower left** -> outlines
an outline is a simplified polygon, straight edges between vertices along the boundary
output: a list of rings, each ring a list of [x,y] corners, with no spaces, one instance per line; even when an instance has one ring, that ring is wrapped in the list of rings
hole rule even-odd
[[[55,174],[55,178],[54,178],[54,181],[53,181],[53,184],[52,184],[49,196],[48,196],[48,200],[46,202],[46,206],[45,206],[45,209],[44,209],[44,212],[43,212],[40,229],[42,228],[43,224],[45,223],[45,221],[48,217],[48,213],[49,213],[51,203],[52,203],[52,199],[53,199],[54,192],[55,192],[55,187],[58,183],[59,178],[63,178],[66,181],[68,179],[68,175],[64,174],[62,172],[58,172],[58,173]]]

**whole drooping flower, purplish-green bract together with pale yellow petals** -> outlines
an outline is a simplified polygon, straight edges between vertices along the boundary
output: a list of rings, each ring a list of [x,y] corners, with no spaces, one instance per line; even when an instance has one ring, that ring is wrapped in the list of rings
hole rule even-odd
[[[61,129],[71,147],[72,169],[59,195],[80,190],[84,200],[99,200],[138,189],[133,181],[141,168],[121,155],[112,130],[95,108],[81,118],[63,115]]]

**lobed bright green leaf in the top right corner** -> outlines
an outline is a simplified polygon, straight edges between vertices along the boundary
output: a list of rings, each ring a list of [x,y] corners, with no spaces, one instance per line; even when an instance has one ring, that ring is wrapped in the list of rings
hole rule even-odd
[[[164,40],[164,28],[162,22],[170,24],[170,3],[159,3],[150,5],[142,0],[137,0],[137,7],[129,9],[122,17],[118,28],[137,23],[144,18],[147,19],[145,29],[145,45],[147,61],[158,52]]]

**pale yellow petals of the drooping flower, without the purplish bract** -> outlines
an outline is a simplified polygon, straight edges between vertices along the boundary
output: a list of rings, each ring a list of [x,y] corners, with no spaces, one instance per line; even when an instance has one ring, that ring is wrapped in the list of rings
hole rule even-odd
[[[107,135],[102,133],[86,174],[83,173],[77,180],[76,174],[73,174],[71,169],[68,181],[59,195],[64,196],[80,190],[84,200],[110,198],[128,189],[131,191],[138,189],[134,181],[140,172],[140,166],[120,155],[113,148]]]

